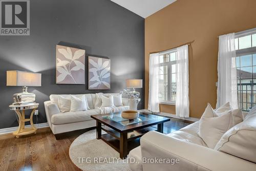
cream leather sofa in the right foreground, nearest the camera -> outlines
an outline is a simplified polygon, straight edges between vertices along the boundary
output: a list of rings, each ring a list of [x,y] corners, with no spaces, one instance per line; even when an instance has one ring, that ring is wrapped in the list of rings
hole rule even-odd
[[[248,114],[249,115],[249,114]],[[221,151],[208,148],[198,136],[199,122],[171,134],[148,132],[129,158],[133,171],[256,170],[256,112],[233,126],[223,136]],[[223,138],[223,137],[222,137]],[[221,139],[223,140],[223,139]],[[221,141],[220,140],[220,141]],[[224,153],[223,151],[228,153]],[[153,162],[146,162],[151,159]],[[176,164],[159,164],[155,159],[179,159]]]

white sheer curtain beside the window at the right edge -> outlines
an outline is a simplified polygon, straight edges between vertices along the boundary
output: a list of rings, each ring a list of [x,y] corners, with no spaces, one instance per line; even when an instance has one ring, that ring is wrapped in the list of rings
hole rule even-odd
[[[219,36],[217,106],[229,102],[238,108],[236,50],[234,33]]]

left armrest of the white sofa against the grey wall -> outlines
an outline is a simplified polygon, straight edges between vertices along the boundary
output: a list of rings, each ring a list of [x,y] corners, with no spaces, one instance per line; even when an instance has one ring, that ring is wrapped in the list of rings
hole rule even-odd
[[[52,127],[51,118],[52,115],[60,113],[58,105],[52,101],[45,101],[46,118],[49,126]]]

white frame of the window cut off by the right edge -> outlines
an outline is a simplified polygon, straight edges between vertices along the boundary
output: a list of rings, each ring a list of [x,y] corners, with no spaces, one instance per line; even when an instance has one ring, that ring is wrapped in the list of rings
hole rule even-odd
[[[252,35],[252,34],[256,34],[256,28],[235,33],[234,38],[236,39],[236,38],[239,38],[239,37],[248,36],[248,35]],[[252,36],[251,36],[251,46],[252,46]],[[238,41],[238,48],[239,48],[239,41]],[[255,91],[253,91],[254,85],[252,84],[251,85],[251,90],[249,90],[250,94],[251,94],[251,97],[250,97],[249,101],[251,101],[251,102],[247,102],[248,100],[246,102],[243,101],[243,91],[241,89],[241,87],[242,87],[242,83],[241,83],[241,80],[242,80],[242,78],[241,78],[241,56],[252,55],[252,54],[256,54],[256,47],[250,47],[250,48],[244,48],[244,49],[236,50],[236,58],[240,57],[239,58],[240,66],[239,67],[236,66],[236,68],[240,69],[240,76],[239,76],[240,79],[237,79],[237,80],[240,80],[240,83],[239,82],[237,83],[238,84],[238,91],[237,91],[238,92],[238,105],[241,106],[241,109],[242,109],[243,112],[248,112],[248,110],[247,110],[248,109],[248,106],[247,106],[248,104],[251,104],[251,108],[253,107],[253,101],[252,100],[253,100],[253,92],[255,92]],[[252,63],[251,66],[248,66],[248,67],[252,67],[251,79],[253,80],[253,63]],[[240,93],[240,95],[239,95],[239,93]],[[240,101],[239,101],[239,99],[240,99]],[[246,99],[247,99],[247,90],[246,90]],[[246,103],[246,110],[243,110],[243,103]]]

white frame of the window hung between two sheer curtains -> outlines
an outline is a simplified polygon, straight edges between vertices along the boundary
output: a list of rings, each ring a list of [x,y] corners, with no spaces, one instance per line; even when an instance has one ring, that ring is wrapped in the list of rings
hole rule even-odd
[[[167,79],[167,81],[168,81],[168,89],[167,89],[168,90],[168,100],[161,100],[161,101],[159,101],[160,104],[168,104],[168,105],[175,105],[176,104],[176,101],[172,101],[172,96],[173,96],[172,95],[172,76],[173,76],[172,75],[172,65],[176,65],[176,63],[177,63],[177,48],[160,52],[159,53],[159,59],[160,59],[161,55],[171,54],[171,53],[174,53],[174,52],[176,52],[176,60],[159,63],[159,68],[163,67],[163,66],[167,66],[167,73],[168,73],[168,77],[167,77],[168,78]],[[170,60],[170,55],[169,55],[169,60]]]

